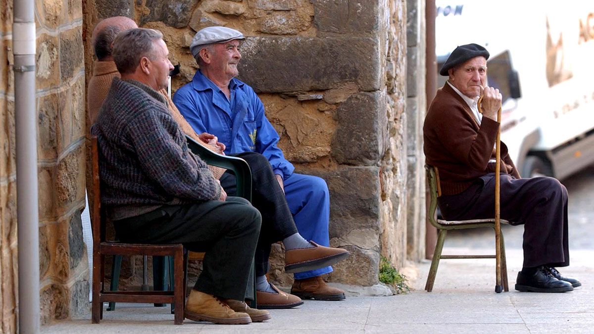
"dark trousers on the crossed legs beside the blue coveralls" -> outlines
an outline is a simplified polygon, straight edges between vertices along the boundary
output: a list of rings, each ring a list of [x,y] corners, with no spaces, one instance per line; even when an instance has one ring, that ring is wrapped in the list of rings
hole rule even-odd
[[[257,276],[263,276],[268,272],[271,245],[297,233],[297,228],[285,193],[276,181],[268,159],[255,152],[238,153],[234,156],[244,159],[252,171],[252,205],[262,215],[262,228],[254,259],[255,272]],[[235,175],[225,172],[220,181],[227,194],[235,196]]]

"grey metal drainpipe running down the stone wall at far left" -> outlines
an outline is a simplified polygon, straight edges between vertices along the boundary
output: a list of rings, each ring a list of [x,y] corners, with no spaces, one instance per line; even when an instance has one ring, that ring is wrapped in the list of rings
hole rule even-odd
[[[34,0],[14,1],[14,114],[17,141],[18,331],[39,333],[39,203]]]

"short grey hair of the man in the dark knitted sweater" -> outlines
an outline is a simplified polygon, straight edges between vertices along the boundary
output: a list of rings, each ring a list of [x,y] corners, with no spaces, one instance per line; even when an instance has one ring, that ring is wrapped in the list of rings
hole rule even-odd
[[[163,39],[163,34],[154,29],[128,29],[122,31],[113,41],[113,61],[119,73],[134,73],[140,59],[153,58],[153,42]]]

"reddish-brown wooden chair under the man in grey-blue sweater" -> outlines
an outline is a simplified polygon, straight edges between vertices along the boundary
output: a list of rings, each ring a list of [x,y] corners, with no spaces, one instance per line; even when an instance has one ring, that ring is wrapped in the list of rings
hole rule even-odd
[[[124,244],[107,241],[106,220],[101,212],[99,184],[99,151],[97,137],[91,137],[91,159],[93,172],[93,303],[92,323],[103,319],[103,303],[106,301],[125,303],[168,303],[175,305],[174,323],[184,322],[185,274],[184,247],[182,244],[146,245]],[[105,291],[105,256],[143,255],[169,256],[173,259],[173,291]]]

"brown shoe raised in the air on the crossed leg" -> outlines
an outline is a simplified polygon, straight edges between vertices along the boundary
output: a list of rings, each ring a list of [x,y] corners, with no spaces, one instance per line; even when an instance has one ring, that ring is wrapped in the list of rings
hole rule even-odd
[[[312,248],[296,248],[285,251],[285,272],[296,273],[331,266],[349,256],[342,248],[324,247],[309,241]]]

